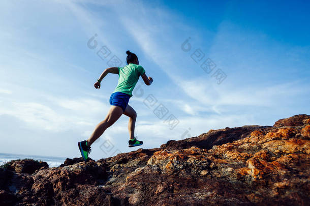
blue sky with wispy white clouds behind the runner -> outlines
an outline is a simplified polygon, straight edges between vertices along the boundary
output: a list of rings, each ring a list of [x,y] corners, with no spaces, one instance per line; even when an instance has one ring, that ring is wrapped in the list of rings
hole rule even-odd
[[[308,9],[289,1],[1,1],[1,152],[78,157],[77,142],[106,116],[118,77],[107,75],[100,90],[94,82],[112,56],[125,66],[128,49],[154,80],[140,79],[129,102],[142,148],[309,114]],[[111,53],[102,59],[103,46]],[[208,59],[210,73],[201,68]],[[167,109],[161,119],[158,106]],[[170,115],[178,124],[165,121]],[[127,124],[121,116],[90,157],[136,150]]]

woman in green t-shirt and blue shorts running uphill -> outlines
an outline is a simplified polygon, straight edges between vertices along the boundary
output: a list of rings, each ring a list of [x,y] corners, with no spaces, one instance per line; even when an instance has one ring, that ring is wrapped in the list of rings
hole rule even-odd
[[[139,65],[138,57],[136,54],[130,51],[126,51],[126,54],[126,60],[128,64],[127,66],[110,67],[105,69],[97,82],[94,84],[96,89],[100,89],[100,82],[108,73],[118,74],[118,83],[116,89],[110,97],[111,107],[106,118],[96,126],[89,139],[78,142],[79,150],[85,161],[88,159],[91,144],[94,143],[94,141],[96,141],[96,139],[98,139],[108,127],[113,125],[122,114],[129,116],[129,146],[132,147],[143,144],[143,141],[139,141],[137,137],[135,137],[135,123],[137,113],[128,104],[128,102],[129,99],[133,96],[132,91],[134,90],[140,76],[146,85],[151,85],[153,79],[146,76],[145,70],[142,66]]]

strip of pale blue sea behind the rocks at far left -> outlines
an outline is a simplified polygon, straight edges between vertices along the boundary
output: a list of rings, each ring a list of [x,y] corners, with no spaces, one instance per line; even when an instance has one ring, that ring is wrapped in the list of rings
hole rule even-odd
[[[38,161],[47,162],[49,167],[58,167],[60,164],[64,163],[66,158],[61,157],[50,157],[50,156],[38,156],[38,155],[18,155],[18,154],[5,154],[0,153],[0,165],[6,162],[16,159],[34,159]]]

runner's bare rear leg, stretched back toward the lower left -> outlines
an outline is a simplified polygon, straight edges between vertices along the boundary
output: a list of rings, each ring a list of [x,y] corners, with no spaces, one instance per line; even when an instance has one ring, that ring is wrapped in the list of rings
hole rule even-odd
[[[92,132],[89,139],[87,139],[87,146],[90,146],[94,141],[96,141],[96,139],[98,139],[103,134],[103,132],[108,127],[113,125],[122,113],[122,109],[119,106],[112,105],[104,121],[97,125],[94,132]]]

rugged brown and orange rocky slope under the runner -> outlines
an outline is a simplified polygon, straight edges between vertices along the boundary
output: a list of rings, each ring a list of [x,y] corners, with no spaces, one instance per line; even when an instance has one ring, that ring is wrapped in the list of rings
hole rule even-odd
[[[309,139],[302,114],[97,162],[12,161],[0,168],[0,205],[309,205]]]

